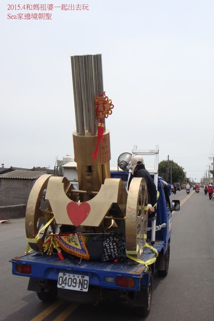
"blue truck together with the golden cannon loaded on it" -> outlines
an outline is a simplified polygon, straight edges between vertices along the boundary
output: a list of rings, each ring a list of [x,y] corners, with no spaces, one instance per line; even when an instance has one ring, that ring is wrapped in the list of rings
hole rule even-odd
[[[37,179],[26,208],[28,246],[25,254],[10,260],[12,273],[29,277],[28,290],[43,301],[60,297],[97,304],[116,294],[123,303],[133,303],[136,314],[147,316],[155,271],[159,276],[168,273],[172,211],[179,210],[179,201],[171,205],[168,185],[158,177],[158,145],[154,150],[137,150],[134,145],[132,151],[133,156],[155,156],[149,173],[158,191],[156,215],[149,219],[144,178],[133,178],[127,191],[124,177],[110,177],[110,131],[105,120],[114,105],[103,89],[101,55],[71,56],[71,67],[79,189],[66,177],[44,174]],[[119,156],[122,170],[132,154]],[[71,253],[62,253],[59,238],[64,251]]]

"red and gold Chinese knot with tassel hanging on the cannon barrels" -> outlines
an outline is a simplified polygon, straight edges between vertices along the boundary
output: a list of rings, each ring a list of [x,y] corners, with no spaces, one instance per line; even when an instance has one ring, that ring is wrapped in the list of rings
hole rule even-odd
[[[97,146],[92,155],[93,160],[96,160],[98,154],[99,143],[102,139],[103,132],[104,132],[104,124],[103,118],[107,118],[108,115],[112,114],[112,108],[114,105],[112,104],[112,100],[108,99],[105,95],[105,91],[102,96],[95,98],[95,112],[96,112],[96,119],[99,119],[98,127],[97,127]]]

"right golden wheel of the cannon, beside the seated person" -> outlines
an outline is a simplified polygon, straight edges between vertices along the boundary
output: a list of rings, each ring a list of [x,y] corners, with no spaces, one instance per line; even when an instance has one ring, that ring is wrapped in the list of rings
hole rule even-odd
[[[141,259],[147,233],[148,193],[144,178],[133,178],[129,187],[126,216],[125,239],[128,255]]]

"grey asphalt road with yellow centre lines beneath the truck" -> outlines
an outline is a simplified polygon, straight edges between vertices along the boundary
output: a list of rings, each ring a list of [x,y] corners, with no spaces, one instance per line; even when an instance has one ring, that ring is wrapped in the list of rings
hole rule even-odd
[[[181,201],[173,213],[170,263],[167,277],[154,277],[154,291],[147,321],[214,320],[214,201],[203,192],[177,191]],[[0,225],[1,313],[5,321],[116,321],[142,320],[131,305],[105,301],[97,306],[64,301],[48,304],[27,291],[28,278],[12,275],[9,260],[26,250],[24,219]]]

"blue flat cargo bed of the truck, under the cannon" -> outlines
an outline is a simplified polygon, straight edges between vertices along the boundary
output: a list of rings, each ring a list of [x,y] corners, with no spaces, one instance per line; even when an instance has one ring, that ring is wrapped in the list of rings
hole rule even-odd
[[[158,241],[153,245],[160,252],[164,242]],[[149,248],[145,248],[142,260],[144,262],[155,257],[155,254],[150,251]],[[102,286],[102,287],[114,287],[116,284],[109,284],[104,282],[104,277],[116,278],[116,276],[133,277],[139,279],[144,273],[146,273],[145,265],[141,263],[128,264],[128,260],[125,262],[98,262],[90,260],[80,260],[72,256],[72,259],[61,260],[57,254],[41,255],[36,252],[15,256],[10,260],[13,264],[12,273],[15,275],[28,276],[39,279],[58,280],[60,272],[75,273],[81,275],[87,275],[90,278],[90,285]],[[134,262],[134,261],[133,261]],[[26,264],[31,266],[31,273],[24,274],[17,272],[17,264]],[[139,282],[136,282],[133,291],[139,291]]]

